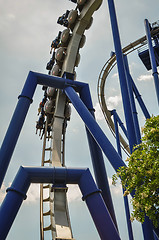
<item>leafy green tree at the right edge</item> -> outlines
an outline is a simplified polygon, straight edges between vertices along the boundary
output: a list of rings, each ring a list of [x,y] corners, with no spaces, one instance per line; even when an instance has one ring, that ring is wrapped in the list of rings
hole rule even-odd
[[[142,143],[135,146],[127,159],[128,166],[120,167],[113,175],[113,184],[120,177],[124,195],[134,191],[131,200],[131,220],[143,223],[145,215],[157,227],[159,224],[159,116],[146,120]]]

